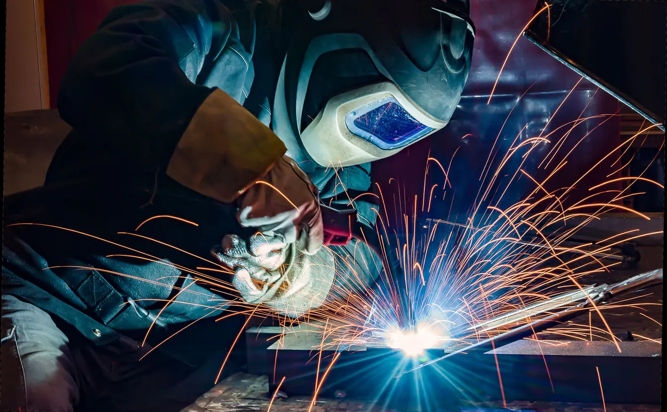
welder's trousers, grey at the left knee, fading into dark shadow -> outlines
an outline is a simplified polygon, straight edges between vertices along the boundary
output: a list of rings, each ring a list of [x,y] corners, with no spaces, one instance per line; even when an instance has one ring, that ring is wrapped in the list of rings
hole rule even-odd
[[[136,341],[96,347],[63,330],[45,311],[2,295],[0,411],[181,411],[213,386],[224,358],[193,368],[155,351],[139,361],[147,349]]]

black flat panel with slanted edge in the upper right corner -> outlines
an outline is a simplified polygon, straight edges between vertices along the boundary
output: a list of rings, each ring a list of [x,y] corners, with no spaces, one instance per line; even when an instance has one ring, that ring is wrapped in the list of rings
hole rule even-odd
[[[549,1],[526,36],[652,123],[665,113],[664,1]],[[538,9],[544,1],[538,2]]]

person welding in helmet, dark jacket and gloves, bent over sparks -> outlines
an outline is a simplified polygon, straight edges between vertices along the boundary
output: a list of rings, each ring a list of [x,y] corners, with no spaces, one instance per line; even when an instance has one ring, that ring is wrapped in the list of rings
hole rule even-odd
[[[374,226],[372,197],[352,199],[370,162],[448,123],[468,14],[467,0],[113,9],[61,81],[73,130],[45,185],[5,197],[1,409],[180,410],[243,363],[229,348],[245,318],[226,313],[339,299],[350,257],[372,283],[368,248],[322,247],[319,203]]]

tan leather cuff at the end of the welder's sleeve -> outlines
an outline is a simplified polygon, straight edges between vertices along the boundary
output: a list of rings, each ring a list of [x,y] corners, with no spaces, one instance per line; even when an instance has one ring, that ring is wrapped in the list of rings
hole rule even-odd
[[[167,166],[181,185],[233,202],[285,154],[283,142],[220,89],[199,106]]]

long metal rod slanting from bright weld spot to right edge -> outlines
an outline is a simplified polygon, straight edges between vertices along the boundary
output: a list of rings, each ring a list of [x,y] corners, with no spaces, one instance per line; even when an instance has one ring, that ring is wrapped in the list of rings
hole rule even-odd
[[[400,373],[396,377],[401,377],[406,373],[416,371],[417,369],[421,369],[422,367],[428,365],[433,365],[434,363],[438,363],[455,355],[460,355],[461,353],[467,353],[468,351],[488,351],[494,348],[498,349],[499,347],[507,345],[508,343],[516,342],[520,339],[524,339],[524,337],[529,337],[538,332],[545,331],[550,327],[562,325],[562,323],[588,312],[593,305],[604,305],[605,303],[608,303],[608,301],[610,301],[613,297],[618,297],[619,295],[624,295],[626,293],[645,289],[654,285],[659,285],[660,283],[662,283],[662,268],[642,273],[641,275],[631,277],[630,279],[615,283],[611,286],[600,285],[592,289],[589,295],[589,299],[580,303],[579,305],[565,309],[558,313],[554,313],[553,315],[520,326],[516,329],[512,329],[511,331],[494,336],[490,339],[485,339],[484,341],[480,341],[464,349],[459,349],[458,351],[447,353],[444,356],[426,361],[420,365],[417,365],[416,367],[413,367],[412,369],[408,369],[407,371]]]

